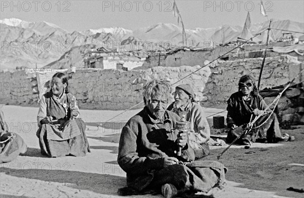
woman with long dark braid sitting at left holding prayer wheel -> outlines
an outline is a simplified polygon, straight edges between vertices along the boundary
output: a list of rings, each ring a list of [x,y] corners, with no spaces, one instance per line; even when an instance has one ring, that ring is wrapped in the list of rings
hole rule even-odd
[[[90,152],[86,125],[79,117],[75,97],[68,91],[67,76],[56,73],[51,89],[40,101],[37,137],[41,153],[50,157],[85,156]]]

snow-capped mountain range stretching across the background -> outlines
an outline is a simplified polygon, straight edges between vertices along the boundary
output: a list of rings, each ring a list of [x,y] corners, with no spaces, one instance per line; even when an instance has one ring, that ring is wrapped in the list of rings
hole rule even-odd
[[[244,19],[245,21],[245,19]],[[252,34],[268,28],[268,22],[252,24]],[[273,20],[272,27],[302,32],[304,23],[290,20]],[[76,51],[78,56],[84,56],[86,48],[101,46],[111,48],[111,45],[135,44],[152,42],[155,45],[169,43],[171,46],[182,45],[182,28],[174,24],[159,23],[136,30],[122,27],[89,29],[83,32],[68,32],[65,29],[45,21],[27,22],[20,19],[0,20],[1,33],[1,70],[15,69],[25,66],[38,68],[62,60],[66,54]],[[221,43],[236,40],[242,33],[242,26],[223,25],[214,28],[186,29],[188,46],[204,46],[204,42]],[[267,32],[259,35],[259,40],[265,40]],[[282,31],[274,31],[273,37],[279,38]],[[293,34],[295,37],[301,34]],[[133,45],[135,46],[135,45]],[[141,48],[134,48],[141,50]],[[71,59],[71,58],[69,58]],[[73,60],[65,61],[64,66],[75,64]],[[70,64],[70,65],[69,65]]]

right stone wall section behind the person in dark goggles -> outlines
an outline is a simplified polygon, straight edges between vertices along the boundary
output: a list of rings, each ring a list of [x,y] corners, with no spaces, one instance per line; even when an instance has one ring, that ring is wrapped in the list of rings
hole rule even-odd
[[[212,104],[225,104],[230,95],[238,91],[240,77],[250,74],[257,82],[261,62],[262,58],[256,58],[217,61],[208,65],[212,74],[204,87],[203,95],[207,96],[208,102]],[[304,69],[304,65],[296,57],[284,55],[266,58],[260,89],[284,85],[298,75],[302,69]],[[294,82],[297,83],[303,79],[304,74],[301,73]]]

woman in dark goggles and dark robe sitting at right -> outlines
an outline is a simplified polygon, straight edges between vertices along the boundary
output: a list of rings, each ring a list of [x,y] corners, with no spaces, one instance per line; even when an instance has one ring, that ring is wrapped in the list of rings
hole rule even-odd
[[[251,75],[245,75],[240,78],[239,91],[233,93],[227,101],[227,126],[231,130],[227,134],[226,141],[231,143],[239,137],[243,130],[234,130],[241,125],[247,124],[254,119],[255,116],[262,115],[253,125],[253,129],[247,134],[240,137],[236,143],[248,145],[257,139],[261,142],[275,143],[281,140],[281,132],[279,122],[275,113],[271,116],[271,110],[263,111],[268,105],[262,96],[257,93],[255,80]],[[269,118],[269,119],[268,119]],[[268,120],[267,120],[268,119]],[[262,126],[254,129],[254,127]]]

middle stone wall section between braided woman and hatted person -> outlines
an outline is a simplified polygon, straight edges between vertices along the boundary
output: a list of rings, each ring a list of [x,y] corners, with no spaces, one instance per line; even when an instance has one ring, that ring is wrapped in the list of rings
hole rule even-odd
[[[194,72],[200,66],[182,66],[178,68],[155,67],[147,70],[94,70],[80,69],[71,75],[70,90],[79,100],[79,106],[89,109],[125,110],[142,102],[143,84],[153,79],[166,79],[172,83]],[[202,98],[201,87],[211,74],[210,68],[178,82],[191,84],[197,99]],[[196,86],[200,85],[200,86]],[[143,105],[137,106],[141,108]]]

